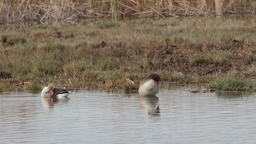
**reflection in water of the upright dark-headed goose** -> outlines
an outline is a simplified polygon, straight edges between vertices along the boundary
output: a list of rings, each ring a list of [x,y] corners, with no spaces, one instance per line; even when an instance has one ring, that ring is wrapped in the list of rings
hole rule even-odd
[[[140,96],[140,108],[148,110],[150,116],[160,116],[157,96]]]

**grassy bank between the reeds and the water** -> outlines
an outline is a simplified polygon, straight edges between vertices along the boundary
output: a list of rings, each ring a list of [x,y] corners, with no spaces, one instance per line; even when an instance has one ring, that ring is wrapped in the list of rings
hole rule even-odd
[[[49,82],[69,88],[137,89],[153,72],[160,75],[161,88],[211,82],[210,88],[216,88],[219,78],[255,78],[255,30],[253,18],[100,21],[2,30],[0,90],[40,90]]]

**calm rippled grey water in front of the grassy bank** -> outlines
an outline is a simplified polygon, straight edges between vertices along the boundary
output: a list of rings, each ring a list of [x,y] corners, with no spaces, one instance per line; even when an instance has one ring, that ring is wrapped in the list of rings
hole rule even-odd
[[[159,98],[159,100],[158,100]],[[1,144],[250,144],[256,96],[163,91],[72,92],[68,99],[0,93]]]

